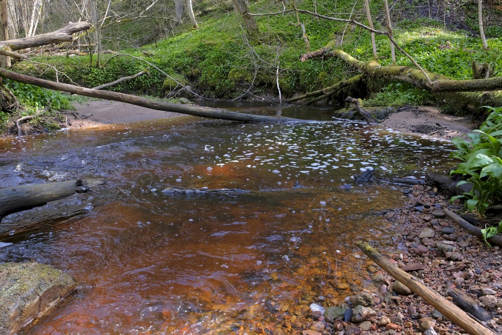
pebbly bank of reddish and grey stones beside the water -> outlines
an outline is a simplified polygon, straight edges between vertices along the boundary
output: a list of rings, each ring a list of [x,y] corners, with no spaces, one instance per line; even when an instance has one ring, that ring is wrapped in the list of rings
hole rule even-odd
[[[456,210],[460,206],[451,205],[445,196],[437,193],[437,188],[417,185],[405,193],[408,199],[404,208],[384,214],[395,228],[394,248],[379,251],[396,266],[422,279],[445,297],[448,297],[448,289],[460,289],[492,316],[486,322],[487,326],[495,333],[502,333],[500,248],[489,249],[480,239],[459,229],[445,217],[443,208]],[[341,303],[338,307],[330,307],[323,315],[312,311],[312,321],[305,325],[303,334],[341,334],[345,331],[431,335],[434,332],[430,327],[440,335],[461,332],[439,311],[403,285],[395,284],[392,277],[369,260],[367,271],[372,278],[372,285],[368,287],[376,288],[378,292],[361,288],[347,299],[352,303],[351,320],[354,322],[342,321],[349,305]],[[356,305],[365,308],[356,308]],[[317,306],[313,307],[316,309]]]

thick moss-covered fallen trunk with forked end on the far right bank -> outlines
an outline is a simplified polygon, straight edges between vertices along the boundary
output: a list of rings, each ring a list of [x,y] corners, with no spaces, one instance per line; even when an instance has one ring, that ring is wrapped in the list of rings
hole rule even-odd
[[[363,82],[360,78],[361,75],[365,77],[366,82],[375,78],[407,82],[417,88],[439,95],[443,103],[471,112],[478,112],[482,105],[502,104],[502,76],[486,79],[454,80],[442,74],[421,71],[410,66],[381,65],[376,60],[363,62],[343,50],[333,49],[331,44],[301,55],[300,60],[303,62],[315,58],[326,59],[330,57],[339,58],[347,65],[360,71],[361,74],[355,76],[358,82]],[[330,87],[344,85],[351,79],[341,81]],[[320,98],[327,89],[316,91],[315,94],[314,92],[307,93],[304,97],[318,96]],[[326,97],[328,96],[323,98]]]

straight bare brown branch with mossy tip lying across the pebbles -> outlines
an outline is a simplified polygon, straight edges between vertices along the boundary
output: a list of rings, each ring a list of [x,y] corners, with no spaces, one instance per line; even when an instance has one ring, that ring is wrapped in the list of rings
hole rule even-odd
[[[389,260],[383,257],[378,251],[371,248],[366,242],[356,243],[359,249],[368,256],[373,262],[378,264],[382,269],[387,271],[391,276],[399,280],[406,287],[418,294],[422,299],[430,303],[441,314],[446,316],[456,325],[467,331],[471,335],[495,335],[493,331],[486,328],[475,319],[470,317],[462,309],[446,300],[442,295],[432,290],[427,285],[421,283],[418,278],[404,272],[397,266],[393,265]]]

